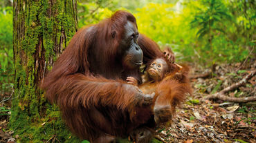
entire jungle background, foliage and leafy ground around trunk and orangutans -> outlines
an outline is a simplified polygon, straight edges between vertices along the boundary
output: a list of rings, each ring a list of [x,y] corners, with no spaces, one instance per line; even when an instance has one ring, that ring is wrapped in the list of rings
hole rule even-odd
[[[254,0],[78,0],[77,19],[82,28],[116,10],[128,10],[141,33],[161,48],[170,46],[176,62],[192,68],[194,94],[177,110],[172,124],[158,126],[158,140],[152,142],[256,142],[255,4]],[[0,142],[86,142],[71,135],[61,121],[55,123],[59,131],[53,128],[47,135],[45,128],[52,124],[46,119],[33,122],[44,131],[30,130],[18,120],[9,123],[15,117],[12,100],[18,98],[12,6],[12,0],[0,1]],[[239,84],[242,79],[245,82]],[[223,91],[235,83],[239,86]],[[60,117],[54,110],[54,117]]]

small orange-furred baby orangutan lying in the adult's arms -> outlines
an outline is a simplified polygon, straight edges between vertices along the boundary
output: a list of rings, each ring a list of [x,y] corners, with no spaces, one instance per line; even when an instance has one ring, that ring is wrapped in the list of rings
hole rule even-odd
[[[156,124],[168,122],[175,113],[178,101],[183,101],[187,93],[191,94],[188,79],[189,68],[178,64],[167,63],[163,58],[149,61],[142,75],[143,84],[138,86],[134,77],[127,77],[127,83],[138,86],[145,94],[156,93],[152,111]],[[165,89],[165,90],[164,90]],[[145,135],[155,134],[154,131],[146,131],[143,128],[131,132],[130,137],[137,143],[145,141]]]

